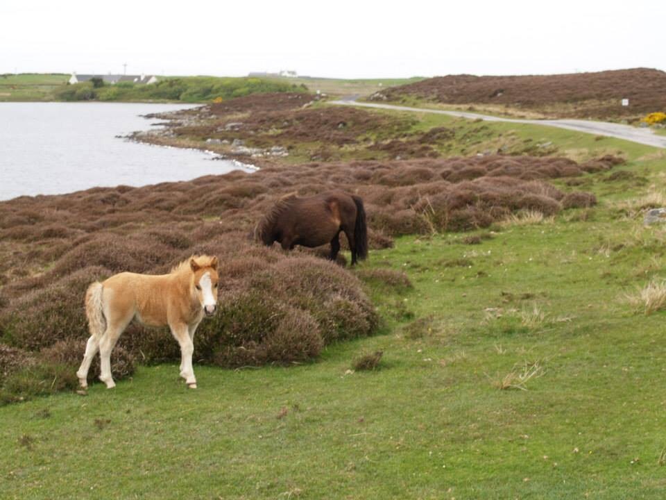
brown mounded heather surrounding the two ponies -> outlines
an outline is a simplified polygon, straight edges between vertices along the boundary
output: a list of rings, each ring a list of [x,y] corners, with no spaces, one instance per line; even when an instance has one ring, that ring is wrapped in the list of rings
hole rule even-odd
[[[353,126],[348,122],[340,133]],[[390,247],[393,235],[467,230],[527,210],[543,217],[563,206],[588,206],[591,195],[567,195],[548,179],[583,176],[615,163],[504,156],[290,167],[264,162],[254,174],[0,202],[0,345],[14,348],[6,358],[15,361],[7,365],[19,366],[5,389],[13,387],[12,399],[22,391],[52,392],[51,386],[42,390],[49,377],[56,389],[75,384],[71,367],[83,356],[88,336],[87,285],[121,271],[168,272],[193,253],[216,255],[221,262],[220,310],[199,328],[198,363],[302,363],[325,344],[373,333],[378,318],[363,284],[318,257],[326,247],[286,254],[253,242],[256,222],[284,194],[338,188],[359,195],[368,213],[370,248],[377,249]],[[364,273],[359,276],[382,286],[409,283],[399,273]],[[401,301],[394,314],[413,316]],[[179,356],[164,329],[131,325],[114,363],[123,366],[118,373],[129,374],[132,359],[156,363]],[[28,358],[36,364],[23,366]]]

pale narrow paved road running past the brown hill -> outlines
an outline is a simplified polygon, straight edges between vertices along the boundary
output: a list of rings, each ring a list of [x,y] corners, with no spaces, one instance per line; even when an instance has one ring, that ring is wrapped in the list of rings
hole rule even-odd
[[[502,118],[489,115],[479,115],[478,113],[468,113],[466,111],[447,111],[434,110],[427,108],[409,108],[408,106],[394,106],[393,104],[382,103],[359,103],[356,101],[358,96],[343,97],[339,101],[331,101],[332,104],[339,106],[362,106],[364,108],[379,108],[398,111],[416,111],[418,113],[437,113],[438,115],[451,115],[469,119],[484,119],[488,122],[511,122],[532,125],[547,125],[558,128],[567,128],[569,130],[591,133],[594,135],[606,135],[608,137],[624,139],[638,144],[647,144],[658,148],[666,149],[666,135],[657,135],[649,128],[638,128],[630,125],[614,124],[608,122],[592,122],[579,119],[513,119]]]

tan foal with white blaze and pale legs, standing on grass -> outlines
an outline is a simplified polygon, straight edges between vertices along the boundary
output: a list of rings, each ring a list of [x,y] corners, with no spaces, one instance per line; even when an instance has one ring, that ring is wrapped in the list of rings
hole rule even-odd
[[[169,274],[114,274],[102,283],[95,281],[85,294],[85,315],[90,338],[76,376],[87,387],[90,363],[99,349],[99,379],[108,389],[115,387],[111,375],[111,351],[133,319],[146,326],[169,325],[180,344],[180,376],[192,389],[194,332],[204,315],[217,307],[217,257],[192,256]]]

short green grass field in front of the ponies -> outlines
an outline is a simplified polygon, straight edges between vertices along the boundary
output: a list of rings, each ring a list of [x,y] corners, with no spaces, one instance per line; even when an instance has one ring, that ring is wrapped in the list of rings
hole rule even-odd
[[[630,174],[584,177],[596,208],[374,251],[361,269],[413,288],[368,281],[381,333],[318,363],[197,366],[196,391],[175,367],[139,367],[112,391],[0,408],[0,497],[663,498],[664,313],[626,295],[666,279],[666,231],[640,219],[665,155],[492,127],[573,156],[623,151]],[[378,369],[352,371],[377,350]]]

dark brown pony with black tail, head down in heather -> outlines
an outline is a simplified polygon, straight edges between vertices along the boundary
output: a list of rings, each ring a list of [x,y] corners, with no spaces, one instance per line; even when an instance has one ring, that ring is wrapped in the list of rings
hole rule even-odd
[[[352,265],[368,256],[363,200],[342,191],[307,198],[288,194],[275,203],[255,228],[255,238],[268,247],[276,241],[285,250],[291,250],[297,244],[314,248],[330,243],[331,260],[335,260],[340,251],[340,233],[347,236]]]

